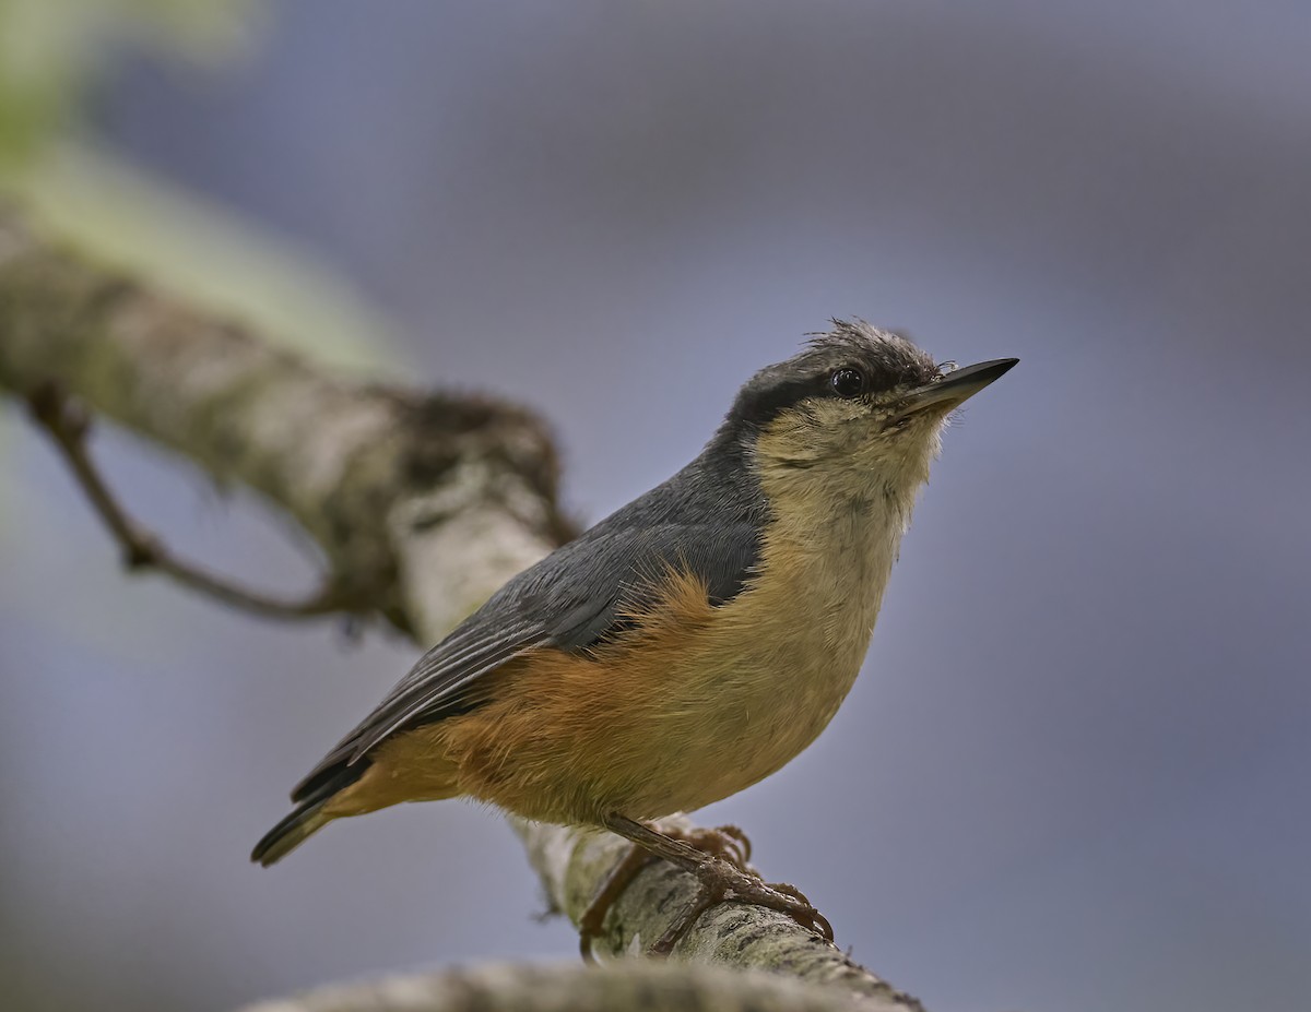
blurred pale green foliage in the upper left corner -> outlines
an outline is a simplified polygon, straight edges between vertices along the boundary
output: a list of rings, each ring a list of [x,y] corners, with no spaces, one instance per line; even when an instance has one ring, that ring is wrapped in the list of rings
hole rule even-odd
[[[349,283],[170,181],[126,163],[84,113],[128,60],[223,73],[261,38],[257,0],[0,0],[0,197],[60,240],[332,364],[395,362]]]

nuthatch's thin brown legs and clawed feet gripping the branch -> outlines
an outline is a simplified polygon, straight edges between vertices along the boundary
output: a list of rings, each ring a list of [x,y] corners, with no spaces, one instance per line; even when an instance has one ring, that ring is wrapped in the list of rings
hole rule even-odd
[[[805,895],[789,885],[766,885],[760,881],[747,864],[750,842],[737,827],[665,834],[617,814],[610,815],[604,825],[636,846],[607,877],[579,922],[586,957],[590,957],[591,939],[599,933],[610,906],[653,856],[695,874],[701,884],[696,899],[652,945],[653,954],[671,952],[701,914],[722,902],[755,903],[781,911],[804,928],[832,941],[832,927],[827,918],[810,906]]]

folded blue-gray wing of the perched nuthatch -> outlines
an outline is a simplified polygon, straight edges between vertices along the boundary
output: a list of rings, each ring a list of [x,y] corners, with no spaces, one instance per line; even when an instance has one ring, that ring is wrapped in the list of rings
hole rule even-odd
[[[401,728],[476,705],[482,675],[541,648],[583,650],[652,603],[670,566],[700,577],[712,603],[741,591],[759,553],[751,523],[593,528],[498,590],[420,658],[364,721],[292,792],[299,801]]]

